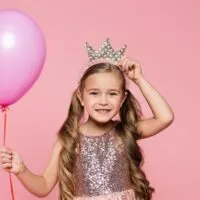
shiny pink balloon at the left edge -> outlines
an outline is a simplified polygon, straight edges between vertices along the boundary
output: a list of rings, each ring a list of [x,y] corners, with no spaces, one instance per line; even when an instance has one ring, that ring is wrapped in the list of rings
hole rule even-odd
[[[18,10],[0,10],[0,106],[18,101],[38,79],[45,40],[36,22]]]

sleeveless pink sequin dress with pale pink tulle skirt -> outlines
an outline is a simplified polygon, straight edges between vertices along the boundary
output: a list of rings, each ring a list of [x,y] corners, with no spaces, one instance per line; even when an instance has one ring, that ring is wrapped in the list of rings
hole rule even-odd
[[[115,126],[101,136],[79,133],[74,200],[135,200],[129,164]]]

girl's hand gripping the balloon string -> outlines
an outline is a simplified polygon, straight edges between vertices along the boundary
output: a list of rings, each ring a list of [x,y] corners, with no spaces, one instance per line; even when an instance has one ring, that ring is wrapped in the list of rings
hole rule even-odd
[[[2,169],[15,175],[23,172],[25,169],[20,155],[5,146],[0,148],[0,165]]]

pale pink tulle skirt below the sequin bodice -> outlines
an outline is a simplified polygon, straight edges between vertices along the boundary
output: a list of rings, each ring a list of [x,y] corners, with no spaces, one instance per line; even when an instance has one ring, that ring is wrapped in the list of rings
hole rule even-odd
[[[74,197],[74,200],[135,200],[133,189],[94,197]]]

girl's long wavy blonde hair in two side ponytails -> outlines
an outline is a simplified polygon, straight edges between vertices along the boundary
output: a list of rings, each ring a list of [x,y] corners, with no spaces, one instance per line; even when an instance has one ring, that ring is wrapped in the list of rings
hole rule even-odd
[[[150,200],[155,189],[150,187],[150,183],[142,170],[144,159],[142,149],[137,144],[140,135],[135,126],[135,122],[141,119],[142,111],[134,95],[126,89],[126,80],[123,72],[117,66],[108,63],[95,64],[87,68],[79,81],[78,88],[83,91],[84,83],[88,76],[104,72],[117,73],[121,80],[122,91],[127,91],[127,97],[120,108],[120,121],[116,125],[116,130],[127,150],[130,178],[133,183],[136,200]],[[77,89],[73,92],[67,119],[58,132],[58,138],[62,145],[59,157],[59,200],[73,199],[75,189],[73,180],[73,168],[76,160],[75,149],[77,147],[79,123],[84,113],[84,108],[77,97]]]

